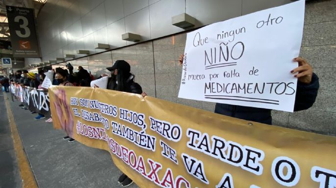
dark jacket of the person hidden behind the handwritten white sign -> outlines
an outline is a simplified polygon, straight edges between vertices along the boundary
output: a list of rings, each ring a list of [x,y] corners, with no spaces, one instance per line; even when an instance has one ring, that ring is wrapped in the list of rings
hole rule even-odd
[[[318,77],[313,73],[310,84],[298,82],[294,111],[310,108],[314,104],[319,88]],[[247,121],[272,125],[271,109],[216,103],[215,113]]]

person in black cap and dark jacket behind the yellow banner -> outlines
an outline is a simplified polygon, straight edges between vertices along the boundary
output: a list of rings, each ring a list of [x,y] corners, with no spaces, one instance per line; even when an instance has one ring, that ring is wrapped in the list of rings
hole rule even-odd
[[[117,60],[113,66],[106,69],[112,73],[111,77],[108,78],[107,89],[136,94],[143,93],[141,86],[134,82],[134,75],[130,73],[130,65],[126,61]],[[95,87],[98,86],[95,85]],[[133,180],[123,173],[119,177],[118,183],[121,183],[123,187],[127,187],[133,183]]]

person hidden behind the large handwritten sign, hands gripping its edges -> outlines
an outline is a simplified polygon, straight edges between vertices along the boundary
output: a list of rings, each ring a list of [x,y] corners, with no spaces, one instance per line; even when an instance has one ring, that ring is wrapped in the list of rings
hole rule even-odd
[[[180,64],[183,63],[184,55],[180,56]],[[319,88],[318,77],[312,71],[307,60],[297,57],[293,63],[298,62],[299,66],[290,72],[298,79],[294,111],[308,109],[314,104]],[[240,106],[233,104],[216,103],[215,113],[247,121],[272,125],[271,109]]]

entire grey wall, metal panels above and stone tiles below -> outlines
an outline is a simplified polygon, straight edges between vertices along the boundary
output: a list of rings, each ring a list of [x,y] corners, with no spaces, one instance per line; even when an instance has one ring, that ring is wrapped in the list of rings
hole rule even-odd
[[[79,3],[80,2],[80,3]],[[116,60],[131,64],[135,80],[150,96],[213,111],[214,104],[178,98],[186,33],[171,25],[171,17],[186,12],[197,27],[270,8],[290,0],[49,0],[38,18],[43,61],[91,53],[95,43],[108,43],[116,50],[70,61],[89,69],[95,76]],[[308,59],[320,78],[316,103],[301,112],[272,111],[273,124],[336,136],[336,0],[310,0],[306,4],[301,55]],[[147,42],[121,40],[135,32]],[[156,39],[158,37],[167,36]],[[153,40],[155,39],[155,40]],[[126,47],[123,47],[126,46]],[[77,56],[80,57],[80,56]],[[57,66],[64,66],[60,63]]]

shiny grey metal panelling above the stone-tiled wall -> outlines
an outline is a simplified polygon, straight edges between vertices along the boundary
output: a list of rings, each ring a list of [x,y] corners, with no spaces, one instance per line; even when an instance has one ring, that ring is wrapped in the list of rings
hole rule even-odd
[[[157,39],[184,29],[171,17],[187,13],[196,18],[194,28],[270,8],[291,0],[48,0],[37,18],[42,62],[76,54],[78,49],[102,52],[134,44],[124,33],[136,33],[142,41]],[[190,28],[192,29],[192,28]],[[77,55],[77,57],[81,57]]]

